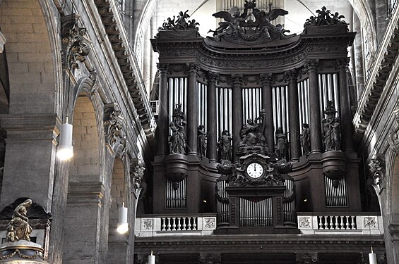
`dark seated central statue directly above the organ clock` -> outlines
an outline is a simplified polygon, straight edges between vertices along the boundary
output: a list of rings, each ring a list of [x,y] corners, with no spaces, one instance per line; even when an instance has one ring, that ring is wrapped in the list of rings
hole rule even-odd
[[[259,122],[258,122],[259,121]],[[264,132],[266,129],[266,111],[263,109],[258,118],[246,120],[246,124],[242,126],[240,136],[241,142],[239,146],[264,146],[267,147]]]

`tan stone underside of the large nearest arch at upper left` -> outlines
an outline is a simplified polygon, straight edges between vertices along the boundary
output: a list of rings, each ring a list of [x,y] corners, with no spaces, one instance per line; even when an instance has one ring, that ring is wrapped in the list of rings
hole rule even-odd
[[[54,88],[59,92],[62,83],[56,8],[45,0],[4,0],[0,8],[10,80],[9,113],[54,113]]]

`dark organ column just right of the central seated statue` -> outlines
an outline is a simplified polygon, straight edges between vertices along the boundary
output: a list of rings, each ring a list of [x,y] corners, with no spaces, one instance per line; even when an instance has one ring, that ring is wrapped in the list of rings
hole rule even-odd
[[[273,98],[271,74],[261,74],[262,84],[262,109],[266,110],[266,142],[268,142],[268,148],[270,152],[274,152],[274,126],[273,126]]]

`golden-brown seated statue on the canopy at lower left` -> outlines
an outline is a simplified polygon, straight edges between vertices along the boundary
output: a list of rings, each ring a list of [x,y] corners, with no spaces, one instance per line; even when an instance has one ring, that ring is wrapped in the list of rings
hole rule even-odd
[[[32,227],[29,225],[29,220],[26,215],[28,208],[32,205],[32,200],[27,199],[23,203],[20,203],[13,212],[13,218],[7,226],[7,240],[8,242],[14,242],[18,240],[30,241],[30,233]]]

